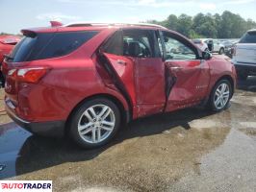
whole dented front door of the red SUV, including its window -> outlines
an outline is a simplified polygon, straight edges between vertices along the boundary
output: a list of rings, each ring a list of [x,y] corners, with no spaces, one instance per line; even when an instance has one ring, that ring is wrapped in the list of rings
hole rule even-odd
[[[166,111],[199,104],[210,82],[209,65],[183,36],[160,32],[166,65]]]

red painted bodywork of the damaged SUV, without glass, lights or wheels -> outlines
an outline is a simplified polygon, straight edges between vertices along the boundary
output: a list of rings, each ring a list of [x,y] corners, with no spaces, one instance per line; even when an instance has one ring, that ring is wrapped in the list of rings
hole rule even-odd
[[[196,105],[209,96],[219,78],[225,75],[232,78],[236,84],[234,66],[227,60],[213,58],[163,61],[161,58],[131,58],[105,53],[115,71],[117,79],[114,80],[113,75],[100,63],[98,48],[120,28],[135,27],[55,27],[23,30],[23,33],[79,30],[98,30],[100,33],[64,57],[8,62],[7,70],[30,67],[49,69],[33,84],[7,76],[6,97],[10,98],[16,107],[13,112],[18,117],[32,122],[66,120],[80,102],[96,95],[109,95],[119,101],[125,110],[131,110],[133,119],[136,119]],[[156,27],[136,28],[163,30]],[[169,32],[177,35],[175,32]],[[198,52],[201,54],[199,50]],[[176,78],[167,98],[166,72]],[[121,85],[123,90],[116,84]]]

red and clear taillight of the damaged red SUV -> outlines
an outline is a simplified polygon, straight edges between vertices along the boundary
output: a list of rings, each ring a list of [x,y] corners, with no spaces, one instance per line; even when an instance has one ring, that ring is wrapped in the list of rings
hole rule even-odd
[[[8,76],[17,82],[36,84],[48,72],[48,67],[10,69]]]

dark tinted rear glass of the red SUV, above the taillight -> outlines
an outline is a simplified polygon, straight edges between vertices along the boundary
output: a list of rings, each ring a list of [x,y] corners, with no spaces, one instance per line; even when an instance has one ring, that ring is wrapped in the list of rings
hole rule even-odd
[[[76,50],[97,33],[86,31],[25,36],[15,46],[9,60],[21,62],[61,57]]]

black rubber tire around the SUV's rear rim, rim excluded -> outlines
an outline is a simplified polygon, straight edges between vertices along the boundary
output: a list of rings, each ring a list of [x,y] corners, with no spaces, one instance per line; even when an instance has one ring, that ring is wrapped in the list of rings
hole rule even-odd
[[[91,106],[100,105],[100,104],[106,105],[109,108],[112,108],[112,110],[114,111],[115,127],[114,127],[113,132],[111,132],[111,134],[109,135],[109,137],[106,138],[105,140],[103,140],[102,142],[99,142],[99,143],[96,143],[96,144],[88,143],[85,140],[83,140],[81,138],[81,136],[79,135],[77,125],[78,125],[78,122],[79,122],[79,119],[80,119],[81,115],[85,112],[86,109],[90,108]],[[70,133],[70,136],[72,137],[73,141],[75,143],[77,143],[80,147],[85,148],[85,149],[97,148],[97,147],[100,147],[100,146],[103,146],[103,145],[107,144],[115,136],[115,133],[117,132],[117,130],[120,126],[120,119],[121,118],[120,118],[119,108],[116,107],[114,102],[112,102],[109,99],[105,99],[105,98],[91,99],[90,101],[84,102],[73,113],[73,115],[71,117],[71,121],[70,121],[69,133]]]

